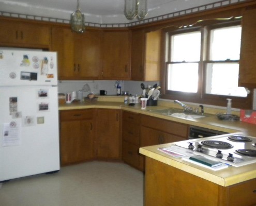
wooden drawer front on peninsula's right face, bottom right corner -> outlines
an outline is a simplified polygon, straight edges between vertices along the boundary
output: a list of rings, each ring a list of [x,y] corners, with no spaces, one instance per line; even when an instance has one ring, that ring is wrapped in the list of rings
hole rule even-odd
[[[256,205],[256,179],[230,186],[229,205]]]

